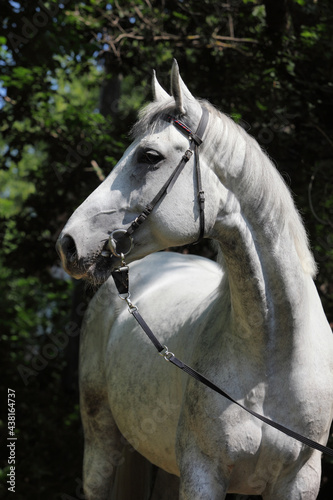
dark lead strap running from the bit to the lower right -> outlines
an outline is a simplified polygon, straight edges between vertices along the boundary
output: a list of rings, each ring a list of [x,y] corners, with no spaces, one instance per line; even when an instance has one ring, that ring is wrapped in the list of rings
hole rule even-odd
[[[274,420],[271,420],[270,418],[264,417],[263,415],[260,415],[259,413],[256,413],[253,410],[250,410],[249,408],[246,408],[246,406],[242,405],[235,399],[233,399],[229,394],[227,394],[225,391],[220,389],[214,382],[210,381],[208,378],[206,378],[204,375],[201,373],[197,372],[190,366],[188,366],[186,363],[178,359],[172,352],[169,351],[168,347],[165,345],[162,345],[159,340],[155,337],[154,333],[152,330],[149,328],[143,317],[138,311],[137,306],[132,304],[130,301],[130,292],[129,292],[129,268],[125,263],[124,260],[124,255],[121,255],[122,263],[121,266],[118,269],[115,269],[112,273],[112,277],[114,279],[115,285],[117,287],[119,297],[122,300],[125,300],[127,305],[128,305],[128,311],[132,316],[135,318],[135,320],[138,322],[142,330],[145,332],[145,334],[148,336],[148,338],[151,340],[151,342],[154,344],[155,348],[159,352],[159,354],[166,360],[172,363],[173,365],[177,366],[180,370],[184,371],[194,379],[198,380],[202,384],[206,385],[213,391],[217,392],[224,398],[228,399],[232,403],[236,404],[243,410],[247,411],[254,417],[258,418],[265,424],[270,425],[271,427],[274,427],[275,429],[283,432],[287,436],[290,436],[297,441],[300,441],[301,443],[309,446],[310,448],[314,448],[315,450],[318,450],[322,453],[325,453],[326,455],[329,455],[330,457],[333,457],[333,450],[327,446],[324,446],[320,443],[317,443],[316,441],[313,441],[312,439],[309,439],[305,436],[302,436],[298,432],[295,432],[291,429],[288,429],[284,425],[281,425]]]

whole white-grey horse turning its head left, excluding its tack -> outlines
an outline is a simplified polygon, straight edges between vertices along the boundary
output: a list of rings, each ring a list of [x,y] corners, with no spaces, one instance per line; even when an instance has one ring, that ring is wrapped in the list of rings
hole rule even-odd
[[[257,142],[191,95],[176,63],[171,89],[169,96],[154,77],[155,100],[135,126],[134,142],[59,238],[63,265],[76,278],[107,279],[120,264],[109,257],[110,233],[128,228],[189,147],[165,114],[181,115],[196,129],[207,109],[200,146],[204,236],[218,245],[220,263],[154,253],[198,238],[193,155],[133,234],[126,256],[126,262],[138,261],[130,265],[131,300],[184,362],[246,407],[325,444],[333,410],[333,337],[291,195]],[[321,453],[157,356],[112,280],[85,318],[80,391],[89,500],[109,498],[126,443],[180,477],[181,500],[221,500],[227,493],[317,497]]]

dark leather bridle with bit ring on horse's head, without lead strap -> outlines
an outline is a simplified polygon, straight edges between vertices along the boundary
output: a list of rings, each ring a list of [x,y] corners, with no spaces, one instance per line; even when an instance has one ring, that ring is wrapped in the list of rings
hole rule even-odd
[[[202,181],[201,181],[199,146],[203,142],[203,136],[209,119],[209,111],[206,108],[202,108],[201,119],[196,132],[192,132],[190,127],[185,125],[185,123],[181,122],[174,116],[163,115],[162,118],[165,121],[172,123],[181,133],[187,135],[190,140],[190,146],[185,151],[177,167],[172,172],[172,174],[165,182],[165,184],[162,186],[162,188],[159,190],[157,195],[153,198],[153,200],[150,203],[146,205],[141,214],[138,217],[136,217],[136,219],[134,219],[134,221],[131,223],[128,229],[127,230],[116,229],[111,233],[109,237],[108,246],[112,254],[115,255],[116,257],[124,257],[125,255],[128,255],[130,253],[133,247],[132,234],[147,219],[147,217],[151,214],[157,203],[162,201],[164,197],[168,193],[170,193],[181,171],[183,170],[183,168],[185,167],[186,163],[189,161],[193,153],[195,158],[195,170],[197,177],[197,191],[198,191],[198,203],[199,203],[199,213],[200,213],[200,233],[197,242],[200,241],[205,234],[205,195],[202,189]],[[117,250],[117,245],[118,245],[118,250]]]

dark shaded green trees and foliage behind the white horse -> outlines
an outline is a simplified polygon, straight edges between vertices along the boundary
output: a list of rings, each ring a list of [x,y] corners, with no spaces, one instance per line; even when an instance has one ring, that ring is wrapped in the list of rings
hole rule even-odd
[[[0,15],[0,494],[11,388],[12,498],[82,498],[77,346],[93,290],[65,278],[54,245],[129,144],[154,68],[168,90],[177,58],[193,94],[274,159],[309,231],[333,322],[333,4],[9,0]],[[319,498],[332,493],[324,457]]]

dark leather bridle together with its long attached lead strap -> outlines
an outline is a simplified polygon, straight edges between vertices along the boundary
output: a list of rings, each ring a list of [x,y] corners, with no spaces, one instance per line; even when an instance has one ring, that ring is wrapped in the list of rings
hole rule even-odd
[[[204,217],[204,203],[205,203],[205,197],[204,197],[204,191],[202,189],[202,182],[201,182],[201,172],[200,172],[200,163],[199,163],[199,146],[202,144],[202,138],[205,132],[205,129],[208,124],[208,119],[209,119],[209,112],[207,109],[202,108],[202,115],[201,119],[198,125],[198,128],[195,133],[191,131],[191,129],[185,125],[183,122],[180,120],[176,119],[175,117],[172,116],[164,116],[163,119],[166,121],[173,123],[177,127],[180,132],[185,133],[186,135],[189,136],[190,140],[190,146],[187,151],[185,151],[184,155],[182,156],[180,162],[178,163],[176,169],[173,171],[171,176],[168,178],[168,180],[165,182],[165,184],[162,186],[160,191],[157,193],[157,195],[153,198],[153,200],[146,205],[144,210],[141,212],[141,214],[136,217],[136,219],[131,223],[131,225],[128,227],[127,230],[123,229],[116,229],[113,231],[109,237],[109,248],[113,255],[116,257],[121,258],[121,266],[116,268],[112,272],[112,277],[114,279],[115,285],[118,290],[119,297],[122,300],[125,300],[127,305],[128,305],[128,311],[132,316],[135,318],[137,323],[140,325],[142,330],[145,332],[145,334],[148,336],[150,341],[153,343],[159,354],[166,360],[175,365],[177,368],[180,370],[184,371],[197,381],[201,382],[205,386],[209,387],[213,391],[217,392],[224,398],[228,399],[232,403],[236,404],[243,410],[247,411],[249,414],[252,416],[256,417],[257,419],[261,420],[265,424],[270,425],[271,427],[274,427],[275,429],[279,430],[280,432],[283,432],[287,436],[290,436],[297,441],[300,441],[301,443],[316,449],[322,453],[325,453],[326,455],[329,455],[333,457],[333,449],[324,446],[316,441],[313,441],[312,439],[309,439],[305,436],[302,436],[298,432],[295,432],[291,429],[288,429],[284,425],[281,425],[274,420],[271,420],[263,415],[260,415],[259,413],[247,408],[246,406],[242,405],[235,399],[233,399],[228,393],[223,391],[220,387],[218,387],[214,382],[206,378],[204,375],[201,373],[197,372],[190,366],[188,366],[186,363],[178,359],[172,352],[168,350],[168,347],[165,345],[162,345],[159,340],[156,338],[152,330],[149,328],[143,317],[138,311],[137,306],[133,305],[132,302],[130,301],[130,292],[129,292],[129,268],[126,265],[125,262],[125,255],[128,255],[133,247],[133,240],[132,240],[132,234],[134,231],[136,231],[140,225],[147,219],[147,217],[151,214],[153,211],[154,207],[157,205],[158,202],[162,201],[163,198],[171,191],[172,187],[174,186],[176,180],[178,179],[181,171],[185,167],[186,163],[189,161],[191,158],[193,152],[195,154],[195,168],[196,168],[196,175],[197,175],[197,189],[198,189],[198,202],[199,202],[199,209],[200,209],[200,234],[199,234],[199,239],[198,241],[203,238],[204,232],[205,232],[205,217]],[[124,246],[124,242],[127,239],[127,244]],[[118,249],[117,249],[118,246]]]

